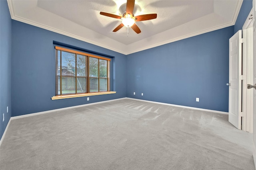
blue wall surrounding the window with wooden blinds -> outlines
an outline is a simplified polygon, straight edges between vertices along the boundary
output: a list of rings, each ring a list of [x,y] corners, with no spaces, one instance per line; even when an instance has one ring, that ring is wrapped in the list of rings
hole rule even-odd
[[[113,56],[116,94],[51,100],[55,96],[53,41]],[[126,97],[126,55],[12,20],[12,116]]]

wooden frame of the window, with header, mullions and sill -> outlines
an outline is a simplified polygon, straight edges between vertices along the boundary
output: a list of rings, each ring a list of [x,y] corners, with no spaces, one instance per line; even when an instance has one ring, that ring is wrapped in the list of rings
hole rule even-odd
[[[59,47],[59,46],[55,46],[55,57],[56,57],[56,63],[55,63],[55,95],[52,97],[52,100],[57,100],[57,99],[64,99],[64,98],[77,98],[77,97],[84,97],[84,96],[96,96],[96,95],[102,95],[102,94],[115,94],[116,92],[110,91],[110,61],[111,59],[109,58],[105,58],[105,57],[100,57],[97,55],[92,55],[92,54],[88,54],[88,53],[84,53],[81,51],[76,51],[73,49],[66,49],[63,47]],[[75,85],[75,94],[62,94],[62,83],[60,79],[60,95],[58,95],[58,81],[56,80],[57,78],[57,74],[58,74],[58,66],[57,66],[57,55],[56,55],[56,51],[60,50],[60,53],[62,53],[62,51],[68,52],[68,53],[74,53],[74,55],[76,56],[75,60],[77,60],[77,55],[84,55],[86,56],[86,60],[87,60],[87,65],[86,65],[86,69],[87,69],[87,75],[85,76],[87,78],[87,86],[86,86],[86,93],[77,93],[77,86]],[[90,92],[90,73],[89,73],[89,67],[90,67],[90,57],[92,58],[96,58],[98,59],[98,92]],[[100,59],[107,61],[107,91],[104,92],[100,92]],[[61,60],[59,61],[61,63]],[[75,66],[76,70],[77,70],[77,62],[76,62],[76,66]],[[60,77],[62,77],[62,69],[60,70]],[[65,76],[64,76],[65,77]],[[75,78],[75,82],[77,81],[77,78],[79,78],[80,76],[78,76],[77,74],[75,74],[74,78]],[[84,76],[83,76],[84,77]],[[77,83],[76,83],[77,84]]]

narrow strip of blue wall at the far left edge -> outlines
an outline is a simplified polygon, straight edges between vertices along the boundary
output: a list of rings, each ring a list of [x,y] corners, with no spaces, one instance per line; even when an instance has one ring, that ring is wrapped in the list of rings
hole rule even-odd
[[[12,115],[11,106],[11,30],[7,1],[0,0],[0,139]],[[8,106],[8,113],[6,107]],[[4,121],[3,121],[4,113]]]

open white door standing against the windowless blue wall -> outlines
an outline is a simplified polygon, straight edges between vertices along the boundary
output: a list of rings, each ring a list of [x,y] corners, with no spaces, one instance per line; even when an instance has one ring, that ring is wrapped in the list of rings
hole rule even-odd
[[[242,88],[240,75],[242,75],[242,30],[239,30],[229,39],[229,107],[228,121],[237,129],[241,129],[241,98]]]

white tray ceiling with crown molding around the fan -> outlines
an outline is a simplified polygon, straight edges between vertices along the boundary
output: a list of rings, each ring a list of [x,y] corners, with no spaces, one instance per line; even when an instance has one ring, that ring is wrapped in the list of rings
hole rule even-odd
[[[122,27],[126,0],[8,0],[12,19],[61,33],[119,53],[131,54],[180,39],[234,25],[242,0],[135,0],[134,16],[157,14],[138,21],[142,31]]]

